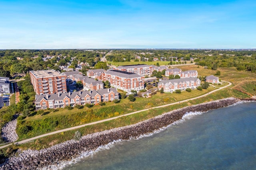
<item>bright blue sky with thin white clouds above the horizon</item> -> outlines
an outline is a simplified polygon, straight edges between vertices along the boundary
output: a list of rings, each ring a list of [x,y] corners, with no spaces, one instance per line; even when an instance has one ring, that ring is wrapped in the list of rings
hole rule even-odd
[[[256,48],[255,0],[0,0],[0,49]]]

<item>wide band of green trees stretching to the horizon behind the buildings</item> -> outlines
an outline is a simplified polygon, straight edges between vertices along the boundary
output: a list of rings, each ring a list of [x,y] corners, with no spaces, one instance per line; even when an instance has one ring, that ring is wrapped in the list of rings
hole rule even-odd
[[[46,56],[56,56],[47,61]],[[105,57],[107,63],[122,61],[153,61],[164,58],[166,61],[190,61],[196,65],[216,70],[218,67],[236,67],[238,70],[256,71],[256,51],[250,50],[204,50],[204,49],[42,49],[42,50],[1,50],[0,76],[10,77],[30,70],[55,69],[68,65],[76,68],[78,63],[88,63],[91,67],[107,68],[106,63],[99,63]],[[19,58],[22,58],[19,59]],[[86,72],[88,67],[81,71]]]

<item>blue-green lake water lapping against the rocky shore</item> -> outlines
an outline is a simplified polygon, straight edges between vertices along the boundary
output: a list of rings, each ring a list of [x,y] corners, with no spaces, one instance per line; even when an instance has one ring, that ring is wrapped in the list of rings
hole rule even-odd
[[[109,144],[64,169],[255,169],[255,131],[256,102],[188,113],[165,130]]]

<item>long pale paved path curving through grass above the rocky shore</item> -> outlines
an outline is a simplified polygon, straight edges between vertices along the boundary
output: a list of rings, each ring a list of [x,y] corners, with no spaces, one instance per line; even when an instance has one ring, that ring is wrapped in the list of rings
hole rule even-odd
[[[226,81],[226,82],[227,82],[227,81]],[[227,83],[228,83],[228,85],[226,85],[226,86],[224,86],[224,87],[220,87],[219,89],[213,90],[213,91],[211,91],[211,92],[209,92],[209,93],[207,93],[207,94],[204,94],[204,95],[201,95],[201,96],[198,96],[198,97],[194,97],[194,98],[192,98],[192,99],[186,99],[186,100],[183,100],[183,101],[178,101],[178,102],[170,103],[170,104],[167,104],[167,105],[152,107],[152,108],[149,108],[149,109],[143,109],[143,110],[140,110],[140,111],[136,111],[136,112],[132,112],[132,113],[127,113],[127,114],[125,114],[125,115],[120,115],[120,116],[117,116],[117,117],[112,117],[112,118],[104,119],[104,120],[101,120],[101,121],[96,121],[96,122],[92,122],[92,123],[86,123],[86,124],[84,124],[84,125],[79,125],[79,126],[76,126],[76,127],[65,128],[65,129],[62,129],[62,130],[57,130],[57,131],[54,131],[54,132],[42,134],[42,135],[40,135],[40,136],[35,136],[35,137],[33,137],[33,138],[29,138],[29,139],[22,140],[22,141],[19,141],[19,142],[14,142],[14,143],[15,143],[15,144],[24,144],[24,143],[27,143],[27,142],[29,142],[29,141],[31,141],[31,140],[35,140],[35,139],[38,139],[38,138],[42,138],[42,137],[44,137],[44,136],[48,136],[48,135],[51,135],[51,134],[56,134],[56,133],[65,132],[65,131],[68,131],[68,130],[74,130],[74,129],[76,129],[76,128],[86,127],[86,126],[89,126],[89,125],[95,125],[95,124],[97,124],[97,123],[102,123],[102,122],[106,122],[106,121],[111,121],[111,120],[117,119],[117,118],[119,118],[119,117],[128,116],[128,115],[133,115],[133,114],[135,114],[135,113],[140,113],[140,112],[143,112],[143,111],[148,111],[148,110],[150,110],[150,109],[156,109],[156,108],[166,107],[166,106],[170,106],[170,105],[176,105],[176,104],[178,104],[178,103],[184,103],[184,102],[186,102],[186,101],[190,101],[190,100],[198,99],[198,98],[200,98],[200,97],[207,96],[207,95],[209,95],[209,94],[211,94],[211,93],[214,93],[214,92],[216,92],[216,91],[218,91],[218,90],[224,89],[224,88],[226,88],[226,87],[228,87],[228,86],[230,86],[230,85],[232,84],[232,83],[230,83],[230,82],[227,82]],[[8,144],[8,145],[10,145],[10,144]],[[0,148],[5,148],[5,147],[8,146],[8,145],[0,146]]]

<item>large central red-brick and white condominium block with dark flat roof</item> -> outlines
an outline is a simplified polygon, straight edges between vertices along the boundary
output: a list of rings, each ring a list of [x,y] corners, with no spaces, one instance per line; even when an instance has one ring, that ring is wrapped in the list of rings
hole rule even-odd
[[[119,70],[108,70],[99,77],[102,81],[109,81],[110,85],[130,93],[132,90],[144,89],[144,77],[136,73]]]

